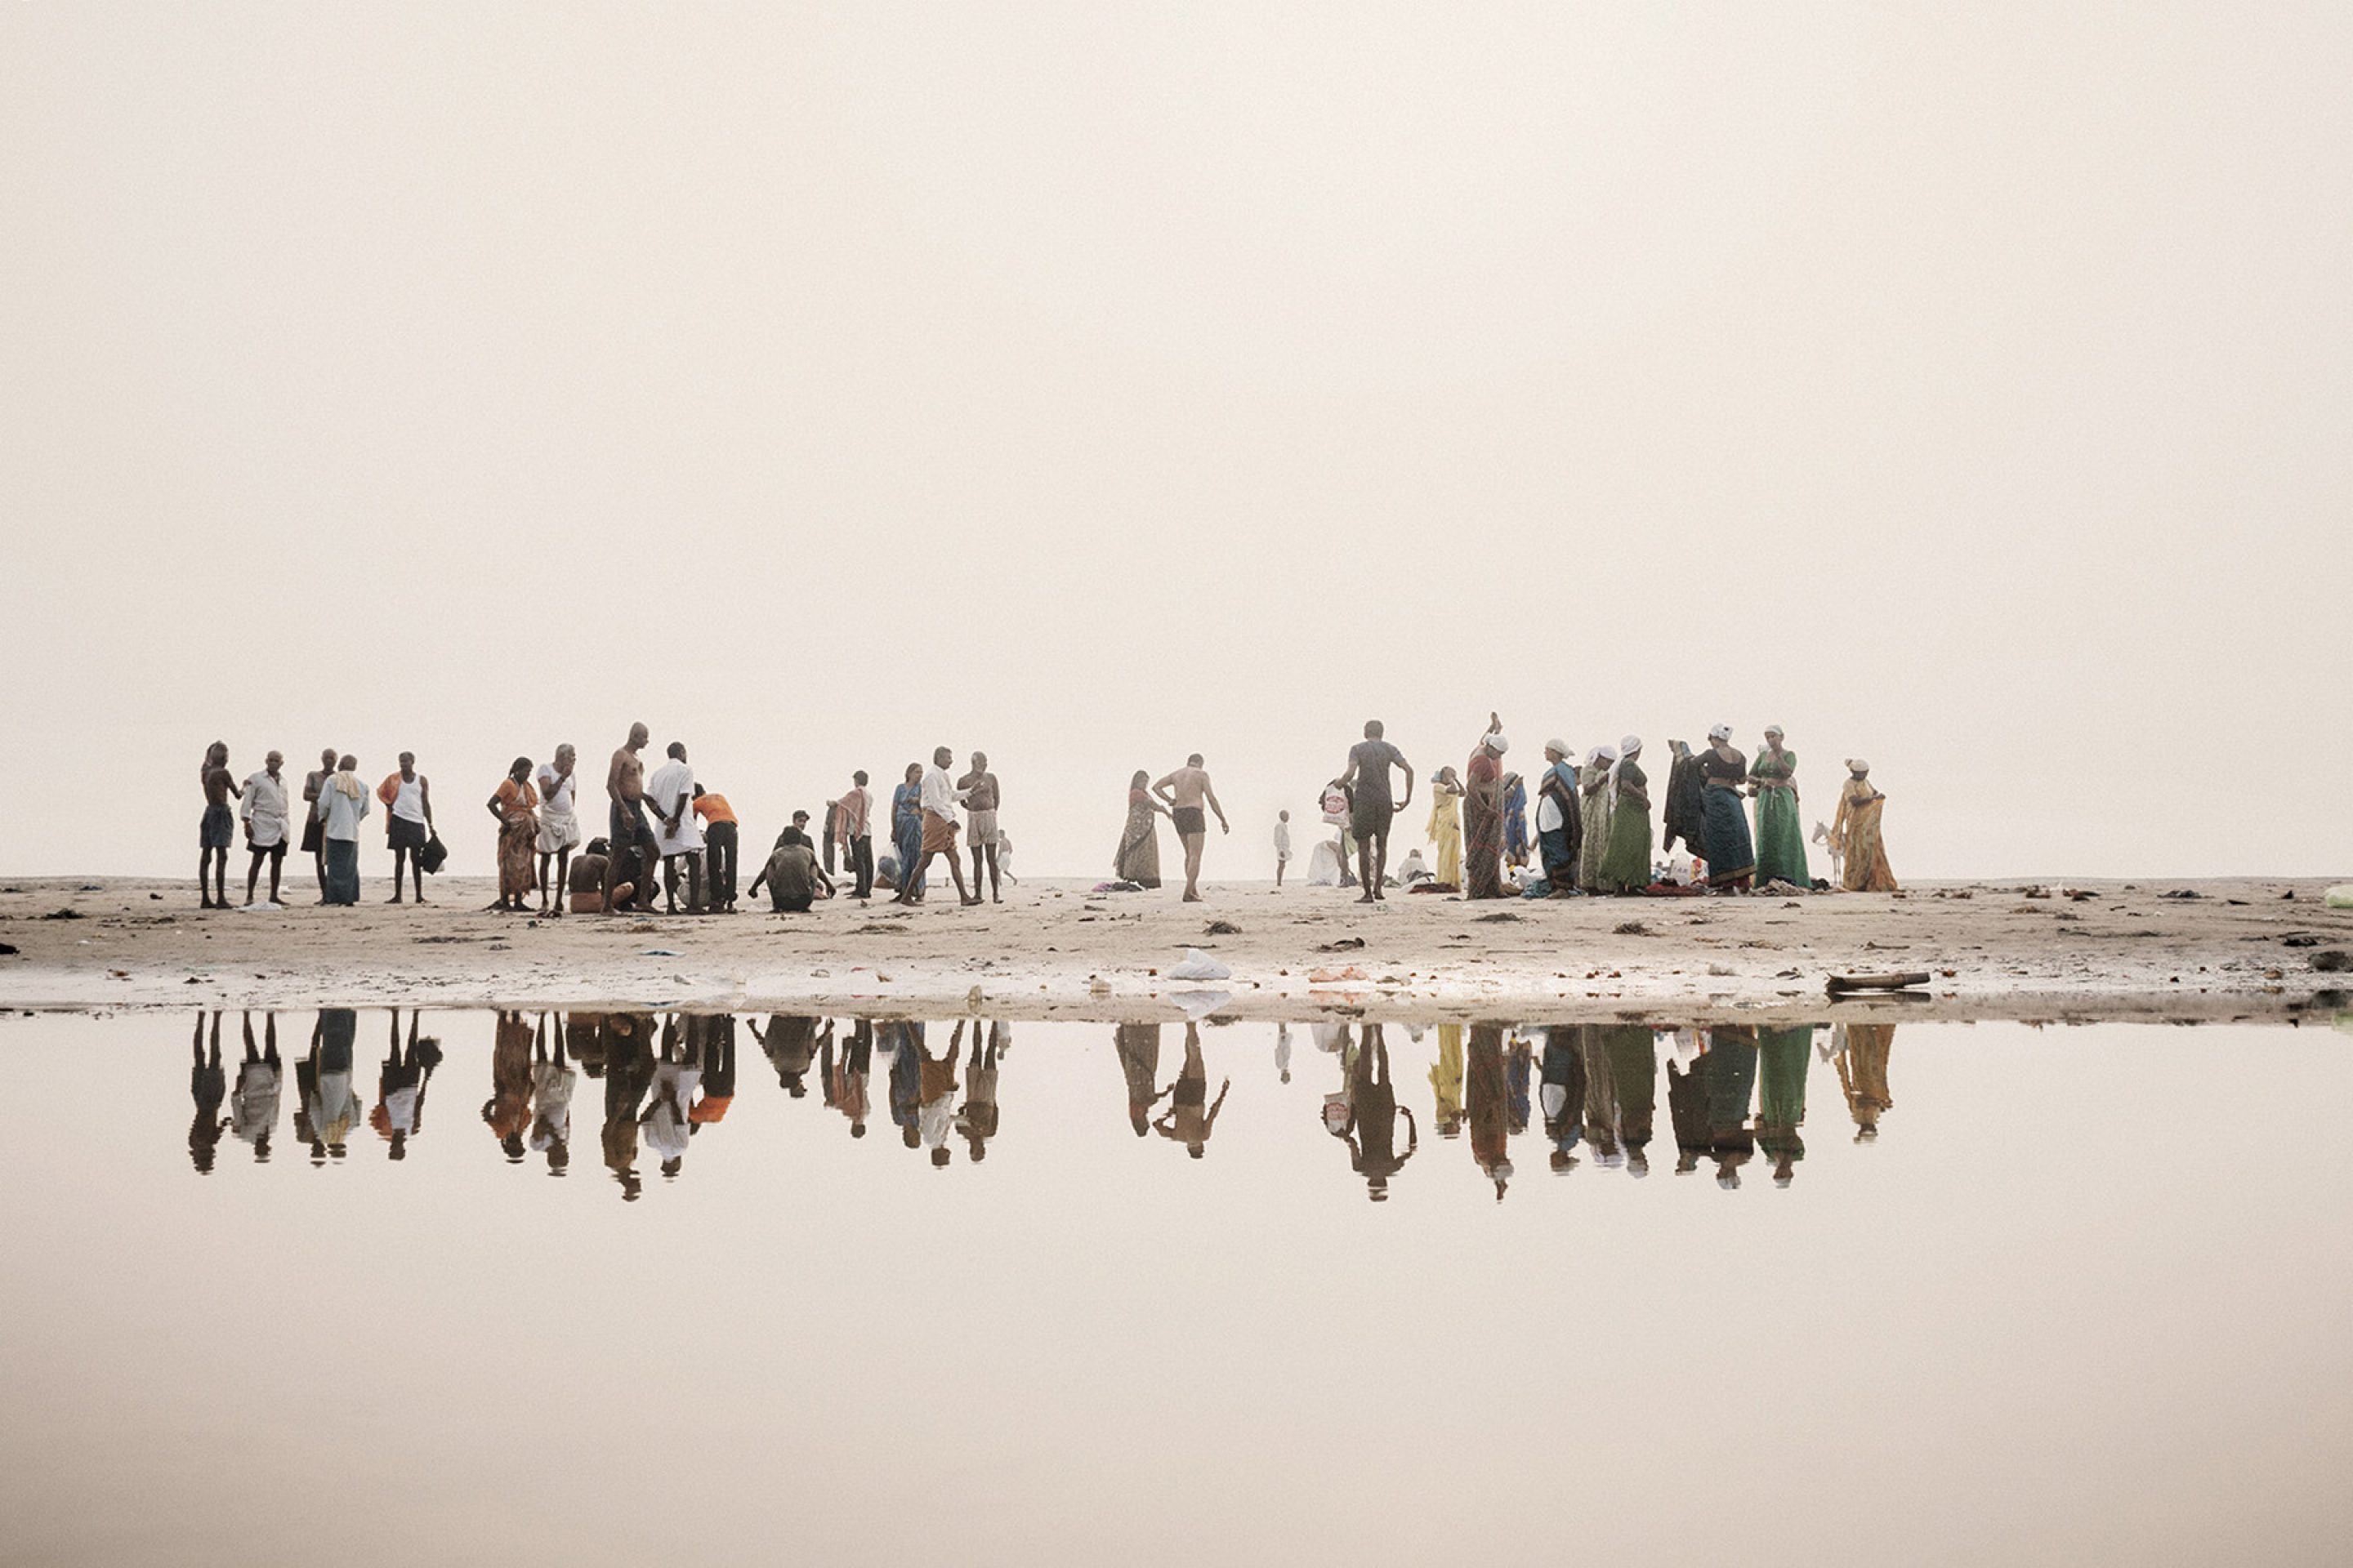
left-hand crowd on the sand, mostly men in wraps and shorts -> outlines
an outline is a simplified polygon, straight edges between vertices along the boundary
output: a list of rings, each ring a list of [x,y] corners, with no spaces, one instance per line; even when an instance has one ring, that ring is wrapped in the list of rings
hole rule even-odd
[[[499,898],[492,910],[560,917],[586,912],[654,912],[656,889],[666,914],[725,914],[736,907],[741,823],[727,797],[704,788],[687,759],[687,745],[671,741],[666,757],[647,773],[652,731],[633,724],[605,769],[607,832],[588,839],[579,818],[579,776],[572,745],[558,745],[551,762],[534,766],[515,757],[485,809],[499,825]],[[438,872],[447,851],[433,823],[433,783],[416,771],[416,757],[400,752],[400,766],[369,790],[358,759],[334,748],[301,783],[301,851],[313,856],[325,905],[360,900],[360,823],[384,806],[386,844],[393,851],[388,903],[426,903],[426,875]],[[892,797],[889,832],[896,856],[873,853],[873,795],[866,773],[826,802],[821,839],[812,839],[807,811],[795,811],[751,896],[762,889],[776,912],[805,912],[833,898],[835,856],[852,879],[852,898],[871,898],[887,886],[899,903],[920,903],[925,877],[939,856],[967,905],[1002,903],[1009,844],[998,827],[1002,785],[988,757],[972,755],[972,769],[951,778],[953,752],[939,748],[932,766],[908,764],[906,783]],[[252,856],[245,872],[245,905],[285,903],[282,870],[294,842],[292,785],[285,757],[268,752],[261,771],[242,783],[228,771],[228,745],[214,741],[200,771],[205,818],[200,825],[200,907],[226,910],[228,851],[238,820]],[[235,804],[233,804],[235,802]],[[960,816],[962,813],[962,816]],[[958,844],[972,851],[972,889]],[[268,870],[268,903],[256,905],[261,872]],[[685,907],[680,907],[685,882]]]

